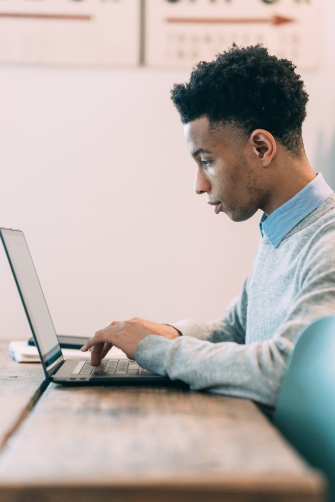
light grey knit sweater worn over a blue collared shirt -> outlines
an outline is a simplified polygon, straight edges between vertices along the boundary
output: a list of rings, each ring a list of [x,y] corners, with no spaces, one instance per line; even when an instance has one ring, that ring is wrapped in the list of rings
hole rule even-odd
[[[183,336],[149,335],[136,349],[144,368],[192,390],[275,406],[300,329],[335,314],[335,194],[275,248],[265,235],[241,295],[212,322],[184,319]],[[322,343],[322,333],[320,333]]]

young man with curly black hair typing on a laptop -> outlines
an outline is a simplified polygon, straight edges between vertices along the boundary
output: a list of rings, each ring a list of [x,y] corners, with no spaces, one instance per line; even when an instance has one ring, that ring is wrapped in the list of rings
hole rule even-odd
[[[275,406],[297,333],[335,314],[335,194],[305,156],[308,95],[294,69],[260,45],[233,45],[175,84],[172,99],[197,165],[195,192],[234,221],[261,209],[262,239],[222,318],[174,327],[115,321],[83,347],[92,364],[116,345],[193,390]]]

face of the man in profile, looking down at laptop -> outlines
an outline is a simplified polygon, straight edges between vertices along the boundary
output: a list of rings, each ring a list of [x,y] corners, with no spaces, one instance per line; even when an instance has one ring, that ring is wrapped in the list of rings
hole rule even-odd
[[[206,193],[215,213],[224,212],[233,221],[255,214],[265,190],[262,169],[248,137],[224,126],[210,128],[205,116],[185,124],[184,134],[197,164],[195,192]]]

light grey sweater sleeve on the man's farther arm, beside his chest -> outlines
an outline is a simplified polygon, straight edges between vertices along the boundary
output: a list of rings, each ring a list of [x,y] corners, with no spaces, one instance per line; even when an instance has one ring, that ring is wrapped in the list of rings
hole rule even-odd
[[[231,341],[245,343],[248,307],[248,280],[244,281],[240,296],[227,307],[224,315],[210,322],[198,319],[182,319],[173,326],[183,336],[192,336],[213,343]]]

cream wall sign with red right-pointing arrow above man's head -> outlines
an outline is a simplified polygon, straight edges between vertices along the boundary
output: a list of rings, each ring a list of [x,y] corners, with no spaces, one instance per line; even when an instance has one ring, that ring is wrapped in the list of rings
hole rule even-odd
[[[146,64],[190,68],[233,42],[316,69],[322,0],[147,0]]]

